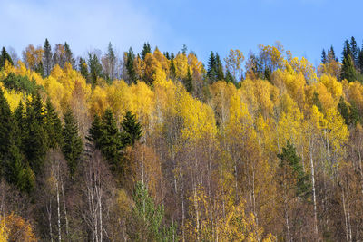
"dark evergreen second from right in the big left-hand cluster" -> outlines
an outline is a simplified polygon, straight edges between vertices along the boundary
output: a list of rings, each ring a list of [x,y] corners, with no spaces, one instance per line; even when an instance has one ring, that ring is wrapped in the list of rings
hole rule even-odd
[[[49,99],[45,105],[44,131],[47,136],[49,148],[55,149],[62,146],[62,122]]]

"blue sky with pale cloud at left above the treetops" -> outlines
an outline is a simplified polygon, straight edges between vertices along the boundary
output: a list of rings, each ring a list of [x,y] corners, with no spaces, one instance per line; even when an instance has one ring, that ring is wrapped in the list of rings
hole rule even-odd
[[[140,52],[149,41],[161,51],[182,44],[204,62],[211,51],[224,57],[240,49],[245,56],[258,44],[280,41],[294,56],[314,65],[322,48],[333,44],[340,57],[343,42],[363,40],[361,0],[0,0],[0,46],[19,56],[27,44],[70,44],[76,55],[106,50],[111,41],[122,53]]]

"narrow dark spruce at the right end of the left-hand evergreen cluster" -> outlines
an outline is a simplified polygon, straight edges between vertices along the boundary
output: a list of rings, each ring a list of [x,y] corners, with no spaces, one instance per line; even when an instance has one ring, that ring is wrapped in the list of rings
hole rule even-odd
[[[71,177],[74,177],[81,154],[83,152],[83,142],[78,134],[78,123],[70,108],[64,113],[64,127],[62,131],[63,146],[62,152],[67,161]]]

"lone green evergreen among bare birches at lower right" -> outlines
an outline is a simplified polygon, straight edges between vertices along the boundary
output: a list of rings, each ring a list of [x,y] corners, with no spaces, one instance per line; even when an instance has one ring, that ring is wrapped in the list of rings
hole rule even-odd
[[[285,179],[285,185],[294,189],[296,196],[307,198],[309,196],[310,183],[309,176],[304,172],[301,166],[301,159],[297,155],[295,147],[289,143],[282,148],[282,153],[278,154],[280,159],[280,170],[282,179]]]

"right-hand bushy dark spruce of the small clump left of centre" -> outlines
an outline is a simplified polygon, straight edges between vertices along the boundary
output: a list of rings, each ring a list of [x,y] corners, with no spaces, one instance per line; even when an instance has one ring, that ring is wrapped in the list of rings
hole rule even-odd
[[[123,127],[123,145],[133,145],[142,137],[142,125],[131,111],[127,111],[121,123]]]

